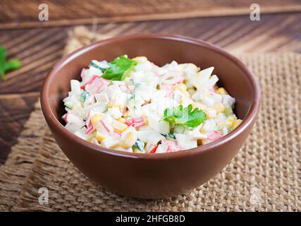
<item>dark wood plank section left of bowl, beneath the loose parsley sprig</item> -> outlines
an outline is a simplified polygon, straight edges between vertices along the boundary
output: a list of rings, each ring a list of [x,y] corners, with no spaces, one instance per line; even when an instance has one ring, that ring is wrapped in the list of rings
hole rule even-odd
[[[2,33],[14,36],[18,32]],[[8,49],[8,59],[20,59],[22,63],[20,69],[8,73],[8,81],[0,83],[0,93],[38,92],[47,71],[61,58],[67,37],[63,28],[39,28],[23,30],[22,35],[0,42]]]

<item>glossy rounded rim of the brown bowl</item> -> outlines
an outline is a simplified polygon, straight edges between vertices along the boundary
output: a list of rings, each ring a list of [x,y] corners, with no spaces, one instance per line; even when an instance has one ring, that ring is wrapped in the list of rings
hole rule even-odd
[[[72,61],[76,57],[80,56],[80,54],[83,54],[85,52],[89,52],[90,49],[94,49],[100,45],[108,44],[111,42],[121,42],[124,40],[135,40],[135,39],[159,39],[159,40],[175,40],[178,42],[186,42],[190,44],[197,44],[202,47],[205,47],[207,49],[210,49],[211,51],[214,51],[218,54],[223,55],[223,57],[226,57],[233,61],[234,64],[236,64],[240,70],[245,74],[247,77],[247,80],[250,83],[252,92],[254,94],[253,97],[253,102],[250,107],[250,110],[245,117],[245,119],[242,120],[242,123],[235,128],[233,131],[228,133],[226,136],[223,136],[222,138],[219,138],[219,140],[213,141],[211,143],[205,144],[205,145],[200,145],[197,146],[196,148],[191,148],[188,150],[180,150],[178,152],[174,153],[156,153],[156,154],[151,154],[151,153],[128,153],[124,152],[121,150],[113,150],[110,148],[104,148],[99,145],[95,145],[93,143],[90,143],[88,141],[83,140],[82,138],[79,138],[78,136],[75,136],[75,134],[71,133],[68,131],[62,124],[61,122],[56,119],[54,113],[51,111],[51,107],[49,105],[47,93],[49,93],[49,87],[50,87],[50,82],[52,78],[54,78],[55,74],[57,71],[59,71],[63,66],[68,64],[68,62]],[[202,40],[197,40],[192,37],[185,37],[182,35],[167,35],[167,34],[134,34],[134,35],[123,35],[123,36],[118,36],[118,37],[111,37],[106,40],[99,40],[97,42],[93,42],[92,44],[89,44],[85,47],[82,47],[78,50],[75,50],[75,52],[71,52],[70,54],[66,55],[63,57],[58,63],[56,63],[51,71],[47,74],[46,78],[44,79],[44,83],[42,85],[42,90],[41,90],[41,107],[42,107],[42,112],[44,114],[45,119],[49,124],[51,124],[52,127],[56,128],[59,130],[60,133],[63,133],[65,136],[68,136],[70,140],[73,140],[75,143],[79,143],[80,145],[83,145],[87,147],[87,150],[92,150],[92,151],[97,151],[109,155],[116,155],[119,157],[130,157],[130,158],[139,158],[139,159],[166,159],[166,158],[177,158],[177,157],[185,157],[185,156],[192,156],[192,155],[197,155],[199,153],[207,153],[210,150],[214,148],[218,148],[219,146],[223,145],[224,143],[227,143],[228,141],[233,140],[235,137],[239,136],[240,133],[245,131],[248,126],[252,126],[252,123],[254,120],[257,118],[257,114],[259,113],[260,105],[261,105],[261,100],[262,100],[262,95],[261,91],[259,88],[259,83],[257,82],[257,79],[254,77],[253,73],[247,69],[247,66],[245,64],[242,64],[242,62],[234,57],[232,54],[226,52],[225,50],[221,49],[221,47],[217,47],[214,44],[211,44],[209,42],[205,42]]]

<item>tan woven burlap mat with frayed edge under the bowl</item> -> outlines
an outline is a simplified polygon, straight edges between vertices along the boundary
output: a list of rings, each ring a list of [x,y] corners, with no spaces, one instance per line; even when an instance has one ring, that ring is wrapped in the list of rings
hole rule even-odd
[[[66,52],[102,38],[77,29],[70,33]],[[259,79],[262,110],[235,159],[203,186],[158,200],[112,194],[73,167],[45,129],[37,106],[0,167],[0,210],[300,211],[301,56],[239,57]],[[49,189],[48,205],[38,203],[40,187]]]

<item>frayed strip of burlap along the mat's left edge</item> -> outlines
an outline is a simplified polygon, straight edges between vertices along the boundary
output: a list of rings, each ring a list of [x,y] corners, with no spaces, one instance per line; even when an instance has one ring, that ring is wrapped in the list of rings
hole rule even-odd
[[[0,166],[0,210],[11,210],[20,196],[27,174],[32,169],[37,150],[42,145],[46,122],[39,102],[30,114],[11,155]]]

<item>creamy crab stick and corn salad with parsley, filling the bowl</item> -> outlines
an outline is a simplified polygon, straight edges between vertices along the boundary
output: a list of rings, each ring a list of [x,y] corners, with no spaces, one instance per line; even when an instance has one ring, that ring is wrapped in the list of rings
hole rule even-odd
[[[217,141],[242,120],[213,72],[176,61],[159,67],[146,57],[92,60],[82,81],[70,81],[65,127],[129,153],[173,153]]]

